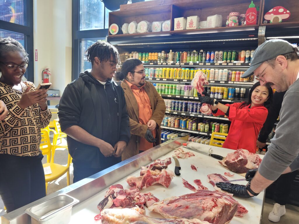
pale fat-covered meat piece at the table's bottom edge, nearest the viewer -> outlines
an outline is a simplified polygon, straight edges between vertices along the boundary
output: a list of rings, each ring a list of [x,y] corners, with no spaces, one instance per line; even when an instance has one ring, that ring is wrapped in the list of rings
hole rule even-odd
[[[198,219],[158,219],[144,215],[140,208],[105,209],[102,224],[209,224]]]

